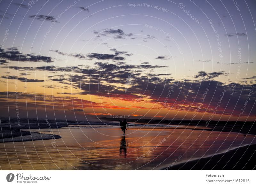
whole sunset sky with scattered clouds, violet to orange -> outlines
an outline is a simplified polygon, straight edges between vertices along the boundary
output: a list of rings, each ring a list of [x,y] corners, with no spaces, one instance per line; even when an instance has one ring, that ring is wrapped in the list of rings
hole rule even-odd
[[[0,1],[0,117],[254,121],[255,1]]]

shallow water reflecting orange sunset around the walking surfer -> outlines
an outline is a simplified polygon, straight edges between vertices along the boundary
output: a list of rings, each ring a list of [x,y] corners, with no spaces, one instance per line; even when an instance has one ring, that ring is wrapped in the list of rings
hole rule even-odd
[[[132,126],[125,138],[118,126],[52,129],[62,138],[0,143],[0,166],[2,170],[157,170],[179,157],[175,163],[256,143],[254,135],[194,129]]]

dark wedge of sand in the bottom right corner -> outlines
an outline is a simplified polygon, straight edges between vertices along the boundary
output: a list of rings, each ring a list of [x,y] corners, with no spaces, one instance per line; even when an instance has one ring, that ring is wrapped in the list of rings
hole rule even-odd
[[[256,144],[173,165],[160,170],[256,170]]]

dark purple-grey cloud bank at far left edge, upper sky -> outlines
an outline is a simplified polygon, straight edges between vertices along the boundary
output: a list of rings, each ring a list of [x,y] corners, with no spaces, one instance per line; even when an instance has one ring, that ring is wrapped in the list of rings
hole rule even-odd
[[[0,55],[2,58],[9,59],[11,61],[32,61],[32,62],[52,62],[51,57],[47,56],[40,56],[40,55],[33,55],[33,54],[23,54],[18,51],[16,47],[8,48],[7,51],[5,51],[3,48],[0,47]]]

